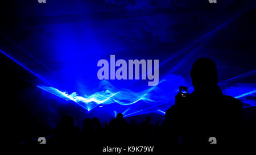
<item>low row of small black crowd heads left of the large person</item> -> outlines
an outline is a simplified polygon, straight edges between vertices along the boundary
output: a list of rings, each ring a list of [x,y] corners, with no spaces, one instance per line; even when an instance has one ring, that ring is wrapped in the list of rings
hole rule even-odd
[[[71,115],[63,116],[61,123],[54,129],[47,142],[53,145],[154,145],[155,133],[159,122],[151,123],[151,118],[137,125],[134,119],[127,123],[121,113],[109,123],[101,124],[98,118],[86,118],[80,130]]]

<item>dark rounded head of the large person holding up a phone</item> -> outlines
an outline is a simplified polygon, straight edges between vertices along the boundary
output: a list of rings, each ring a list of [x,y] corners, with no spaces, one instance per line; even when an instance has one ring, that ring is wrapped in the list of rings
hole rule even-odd
[[[215,62],[209,58],[196,60],[192,66],[190,75],[195,90],[217,86],[217,67]]]

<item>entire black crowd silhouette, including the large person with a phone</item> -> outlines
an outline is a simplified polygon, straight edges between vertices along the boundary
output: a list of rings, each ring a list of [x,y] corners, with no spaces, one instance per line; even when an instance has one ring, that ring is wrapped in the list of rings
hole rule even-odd
[[[209,58],[200,58],[192,66],[191,78],[195,91],[187,97],[177,94],[162,124],[153,124],[149,116],[139,125],[134,119],[127,123],[119,113],[105,124],[98,118],[86,118],[80,130],[75,119],[65,115],[47,144],[89,148],[154,145],[164,150],[174,145],[209,145],[209,137],[219,145],[244,143],[242,103],[222,94],[217,85],[216,64]]]

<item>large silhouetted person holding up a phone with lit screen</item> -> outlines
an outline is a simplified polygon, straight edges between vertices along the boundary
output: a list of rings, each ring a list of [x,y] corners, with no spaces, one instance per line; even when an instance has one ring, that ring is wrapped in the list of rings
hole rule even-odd
[[[216,64],[200,58],[191,69],[195,88],[187,97],[176,95],[175,105],[166,111],[162,125],[168,143],[183,145],[242,143],[243,108],[240,100],[222,94],[217,82]]]

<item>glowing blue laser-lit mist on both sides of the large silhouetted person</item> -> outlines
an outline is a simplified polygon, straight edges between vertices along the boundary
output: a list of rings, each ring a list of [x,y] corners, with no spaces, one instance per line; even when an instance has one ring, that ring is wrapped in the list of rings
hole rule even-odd
[[[125,110],[123,113],[126,113],[129,110],[131,113],[125,114],[128,116],[132,114],[137,115],[138,113],[141,114],[142,110],[144,112],[155,111],[160,112],[160,114],[164,114],[166,108],[174,104],[175,95],[177,94],[177,88],[179,86],[188,86],[188,83],[183,77],[170,74],[160,81],[157,86],[151,86],[148,89],[139,92],[129,89],[119,89],[114,87],[109,81],[106,80],[101,81],[96,90],[85,90],[85,92],[88,92],[88,94],[83,95],[76,92],[68,93],[65,91],[60,91],[50,86],[38,87],[56,95],[57,97],[65,100],[72,100],[88,111],[97,106],[103,108],[105,105],[113,103],[119,104],[120,106],[127,106],[127,110]],[[250,93],[251,90],[254,90],[253,93]],[[189,91],[189,93],[192,93],[191,89],[189,89]],[[247,93],[247,91],[250,92]],[[223,93],[241,99],[247,95],[253,95],[255,93],[255,87],[254,85],[250,85],[250,87],[247,85],[246,87],[245,85],[228,88],[226,87]],[[244,99],[241,100],[242,102],[245,101]],[[135,105],[135,103],[137,104]],[[248,104],[250,104],[250,106],[255,106],[255,100],[254,103],[250,102]],[[134,107],[131,109],[132,105],[135,105],[135,112],[133,112]],[[147,106],[146,108],[143,107],[145,105]],[[113,109],[115,110],[114,113],[116,113],[116,110],[118,110],[118,107],[115,107],[116,109]]]

